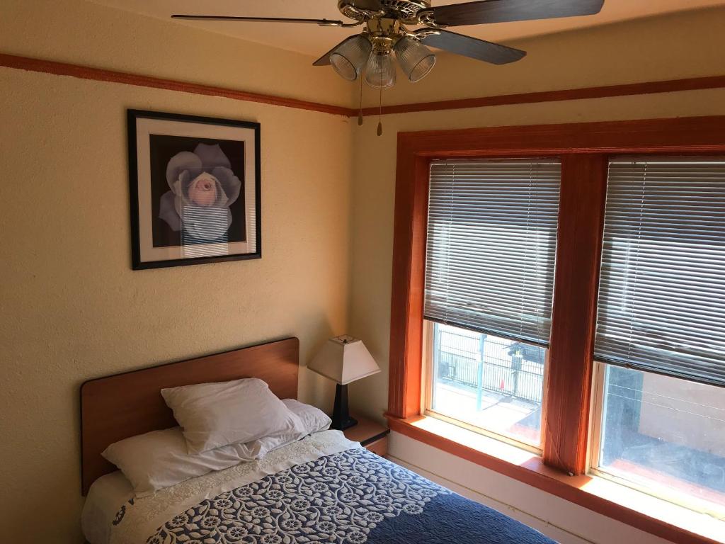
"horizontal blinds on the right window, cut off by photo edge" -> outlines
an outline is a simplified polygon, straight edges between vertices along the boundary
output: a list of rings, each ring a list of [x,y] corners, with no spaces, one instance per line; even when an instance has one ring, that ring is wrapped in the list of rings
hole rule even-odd
[[[725,386],[725,157],[610,161],[595,356]]]

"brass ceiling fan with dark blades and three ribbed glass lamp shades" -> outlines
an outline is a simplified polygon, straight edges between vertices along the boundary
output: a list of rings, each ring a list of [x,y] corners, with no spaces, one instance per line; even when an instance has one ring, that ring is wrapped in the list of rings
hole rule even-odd
[[[297,22],[342,28],[364,25],[362,33],[346,38],[314,65],[332,65],[348,81],[355,81],[365,73],[368,85],[383,89],[394,86],[396,81],[393,53],[403,73],[413,83],[426,77],[436,64],[436,56],[428,46],[494,65],[508,64],[526,56],[526,51],[521,49],[463,36],[446,28],[595,15],[601,11],[604,0],[482,0],[436,7],[431,7],[430,0],[338,0],[337,4],[341,14],[352,22],[229,15],[171,17],[209,21]],[[421,26],[423,28],[409,28]]]

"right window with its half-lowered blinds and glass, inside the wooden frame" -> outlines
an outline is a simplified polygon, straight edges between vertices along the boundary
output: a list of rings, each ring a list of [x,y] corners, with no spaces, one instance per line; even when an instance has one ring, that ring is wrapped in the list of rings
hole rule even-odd
[[[725,514],[725,159],[610,160],[592,466]]]

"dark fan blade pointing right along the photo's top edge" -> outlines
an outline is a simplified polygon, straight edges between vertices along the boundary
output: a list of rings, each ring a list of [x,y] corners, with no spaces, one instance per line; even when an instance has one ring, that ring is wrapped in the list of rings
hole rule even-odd
[[[603,5],[604,0],[483,0],[425,9],[418,15],[441,26],[484,25],[595,15]]]

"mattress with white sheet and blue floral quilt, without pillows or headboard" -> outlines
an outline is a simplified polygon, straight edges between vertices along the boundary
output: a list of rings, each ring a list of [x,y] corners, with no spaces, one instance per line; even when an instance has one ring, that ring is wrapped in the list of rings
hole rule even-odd
[[[91,544],[554,544],[339,431],[146,498],[109,474],[88,493],[83,530]]]

